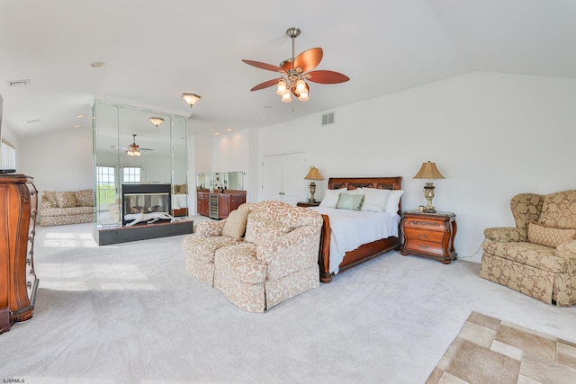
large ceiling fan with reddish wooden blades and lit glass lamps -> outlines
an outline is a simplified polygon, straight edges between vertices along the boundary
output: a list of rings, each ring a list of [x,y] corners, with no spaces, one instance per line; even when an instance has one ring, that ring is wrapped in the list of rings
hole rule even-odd
[[[289,103],[292,102],[291,94],[296,96],[300,101],[307,101],[309,99],[310,86],[306,81],[319,84],[338,84],[350,80],[348,76],[338,72],[311,70],[320,64],[320,60],[324,54],[321,48],[308,49],[303,51],[300,55],[295,56],[295,40],[300,36],[300,33],[301,31],[299,28],[289,28],[286,30],[286,34],[292,39],[292,58],[285,59],[278,67],[260,61],[242,60],[250,66],[279,72],[281,74],[280,77],[276,77],[275,79],[254,86],[250,91],[258,91],[276,85],[276,94],[282,96],[282,101],[284,103]]]

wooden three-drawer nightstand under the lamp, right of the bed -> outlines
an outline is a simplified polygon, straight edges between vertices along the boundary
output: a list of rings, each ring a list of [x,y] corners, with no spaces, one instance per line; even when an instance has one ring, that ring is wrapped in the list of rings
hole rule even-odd
[[[402,255],[419,255],[449,264],[456,259],[454,238],[456,215],[452,212],[425,213],[407,210],[402,215]]]

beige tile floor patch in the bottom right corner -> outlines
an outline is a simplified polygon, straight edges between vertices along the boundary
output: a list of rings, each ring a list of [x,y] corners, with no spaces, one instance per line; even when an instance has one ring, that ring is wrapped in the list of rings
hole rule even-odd
[[[576,344],[473,312],[427,384],[575,383]]]

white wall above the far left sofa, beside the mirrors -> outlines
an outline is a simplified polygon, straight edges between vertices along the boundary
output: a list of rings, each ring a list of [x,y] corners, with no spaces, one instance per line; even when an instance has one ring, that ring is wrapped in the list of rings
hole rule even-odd
[[[16,153],[18,172],[34,178],[36,189],[93,189],[92,129],[67,129],[22,138]]]

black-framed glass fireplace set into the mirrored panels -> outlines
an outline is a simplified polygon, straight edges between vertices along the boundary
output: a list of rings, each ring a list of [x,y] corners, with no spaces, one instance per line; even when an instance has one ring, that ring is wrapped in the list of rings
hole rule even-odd
[[[172,212],[171,184],[122,184],[122,225],[131,219],[126,215],[136,213]],[[162,222],[159,220],[157,222]]]

